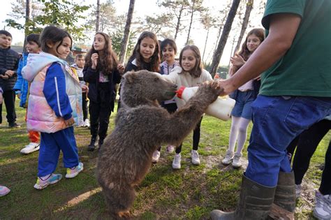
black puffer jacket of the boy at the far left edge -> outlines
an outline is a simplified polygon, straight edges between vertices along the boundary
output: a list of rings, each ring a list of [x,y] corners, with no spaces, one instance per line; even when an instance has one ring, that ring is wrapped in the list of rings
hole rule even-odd
[[[5,75],[6,71],[17,71],[18,62],[20,59],[20,55],[11,50],[10,47],[7,49],[0,48],[0,74]],[[17,75],[13,75],[8,79],[0,78],[0,87],[3,91],[13,90],[15,82],[17,80]]]

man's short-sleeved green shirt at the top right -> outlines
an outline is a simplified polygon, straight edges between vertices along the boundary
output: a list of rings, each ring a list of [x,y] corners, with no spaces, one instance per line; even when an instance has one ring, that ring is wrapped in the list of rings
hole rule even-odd
[[[331,97],[331,0],[268,0],[262,24],[270,15],[302,18],[290,49],[261,76],[265,96]]]

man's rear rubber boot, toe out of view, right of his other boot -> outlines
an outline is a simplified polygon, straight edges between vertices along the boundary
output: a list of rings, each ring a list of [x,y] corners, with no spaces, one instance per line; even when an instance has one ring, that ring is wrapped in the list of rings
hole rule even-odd
[[[295,180],[294,173],[279,172],[274,204],[294,212],[295,210]]]

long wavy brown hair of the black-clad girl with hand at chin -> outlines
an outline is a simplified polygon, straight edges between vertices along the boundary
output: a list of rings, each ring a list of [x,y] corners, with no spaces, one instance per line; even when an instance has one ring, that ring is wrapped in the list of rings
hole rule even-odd
[[[105,38],[105,47],[103,47],[103,56],[98,57],[98,64],[96,68],[98,70],[103,71],[104,75],[109,75],[117,69],[117,54],[112,50],[112,41],[110,40],[110,36],[108,34],[105,34],[103,32],[97,32],[94,36],[97,34],[100,34]],[[87,52],[85,56],[85,65],[86,66],[92,66],[92,61],[91,61],[91,55],[94,53],[98,53],[97,50],[94,49],[94,45],[92,44],[91,49],[89,52]]]

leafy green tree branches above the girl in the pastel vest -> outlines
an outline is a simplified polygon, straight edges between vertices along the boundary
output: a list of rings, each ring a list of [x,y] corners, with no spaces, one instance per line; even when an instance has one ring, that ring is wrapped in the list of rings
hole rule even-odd
[[[84,31],[88,25],[78,25],[78,21],[85,18],[82,13],[88,10],[89,6],[80,6],[80,4],[67,0],[38,0],[38,3],[39,5],[43,4],[41,12],[33,15],[29,22],[20,24],[15,19],[8,19],[6,20],[7,26],[15,29],[28,27],[28,34],[31,34],[40,33],[46,25],[55,25],[66,29],[75,40],[84,39]],[[22,8],[13,9],[22,11]],[[17,18],[22,18],[24,14],[20,13],[17,16]]]

